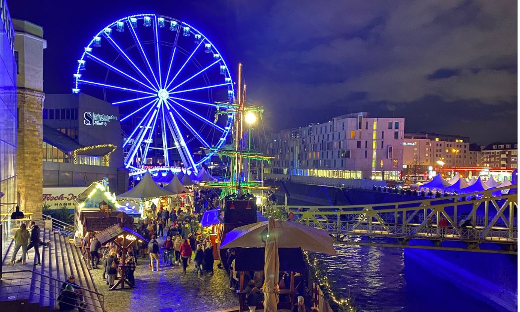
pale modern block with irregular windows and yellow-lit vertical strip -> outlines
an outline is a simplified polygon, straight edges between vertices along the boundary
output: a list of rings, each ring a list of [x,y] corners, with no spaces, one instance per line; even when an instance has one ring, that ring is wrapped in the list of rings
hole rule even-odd
[[[271,134],[266,154],[275,158],[274,174],[395,180],[402,169],[404,128],[404,118],[346,114]]]

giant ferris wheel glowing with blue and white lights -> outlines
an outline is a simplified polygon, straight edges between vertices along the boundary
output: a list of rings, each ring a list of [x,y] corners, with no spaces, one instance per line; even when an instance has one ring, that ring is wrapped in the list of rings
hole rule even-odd
[[[134,171],[153,159],[171,166],[178,152],[197,172],[212,155],[200,148],[220,148],[233,123],[232,106],[222,103],[235,96],[224,58],[197,29],[162,15],[101,29],[77,61],[72,92],[119,107],[124,165]]]

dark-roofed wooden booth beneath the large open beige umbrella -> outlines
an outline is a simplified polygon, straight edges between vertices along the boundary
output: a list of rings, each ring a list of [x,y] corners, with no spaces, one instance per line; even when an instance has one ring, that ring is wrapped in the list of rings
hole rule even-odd
[[[235,269],[239,273],[239,295],[240,310],[248,310],[245,306],[245,286],[250,279],[255,281],[256,287],[262,291],[264,284],[264,248],[241,248],[235,249]],[[279,248],[280,257],[280,302],[278,309],[291,309],[295,303],[298,291],[303,293],[307,284],[307,266],[304,261],[301,248]],[[254,272],[254,273],[253,273]],[[287,272],[284,275],[283,272]],[[260,278],[261,277],[261,278]],[[283,280],[283,282],[282,282]],[[262,303],[257,306],[263,309]]]

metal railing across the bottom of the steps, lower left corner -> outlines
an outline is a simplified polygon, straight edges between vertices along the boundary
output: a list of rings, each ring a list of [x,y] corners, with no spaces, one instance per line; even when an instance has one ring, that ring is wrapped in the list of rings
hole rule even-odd
[[[25,272],[29,272],[31,274],[31,277],[24,277],[23,274]],[[5,294],[8,296],[9,294],[18,294],[21,292],[26,292],[23,290],[20,291],[19,287],[28,286],[29,290],[27,292],[32,293],[36,296],[40,296],[40,297],[43,296],[45,298],[48,298],[49,305],[52,305],[52,306],[50,306],[51,309],[57,308],[59,303],[62,302],[62,300],[58,300],[58,296],[60,295],[61,290],[62,290],[61,285],[63,283],[67,283],[66,281],[62,281],[62,280],[56,279],[54,277],[47,276],[47,275],[44,275],[44,274],[41,274],[41,273],[38,273],[35,271],[31,271],[31,270],[16,270],[16,271],[4,272],[4,274],[11,274],[11,273],[20,274],[22,277],[11,278],[11,279],[2,279],[2,284],[3,284],[2,294]],[[39,281],[35,280],[33,275],[40,276],[40,280]],[[48,282],[45,282],[44,279],[48,279]],[[23,280],[29,280],[29,283],[22,283]],[[19,283],[15,282],[12,286],[8,286],[8,283],[10,283],[11,281],[20,281],[20,282]],[[38,286],[38,284],[40,284],[40,286]],[[41,294],[42,290],[44,293],[47,292],[47,290],[43,287],[42,284],[49,286],[49,288],[48,288],[49,295]],[[9,291],[10,287],[14,287],[16,291],[10,292]],[[33,288],[37,288],[39,291],[38,292],[32,291]],[[80,295],[83,297],[82,302],[85,303],[86,306],[82,307],[82,308],[85,311],[97,312],[97,311],[99,311],[99,309],[101,311],[105,311],[105,298],[103,297],[103,294],[86,289],[79,285],[73,285],[73,288],[76,290],[81,290],[81,294],[76,292],[76,298],[80,297]],[[77,300],[77,306],[80,306],[80,303],[81,303],[80,300]]]

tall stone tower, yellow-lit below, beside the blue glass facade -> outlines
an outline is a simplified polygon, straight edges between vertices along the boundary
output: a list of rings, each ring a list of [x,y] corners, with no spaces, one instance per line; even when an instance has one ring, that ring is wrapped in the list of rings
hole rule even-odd
[[[47,41],[42,27],[13,20],[17,58],[18,192],[25,211],[42,210],[42,108],[43,50]]]

